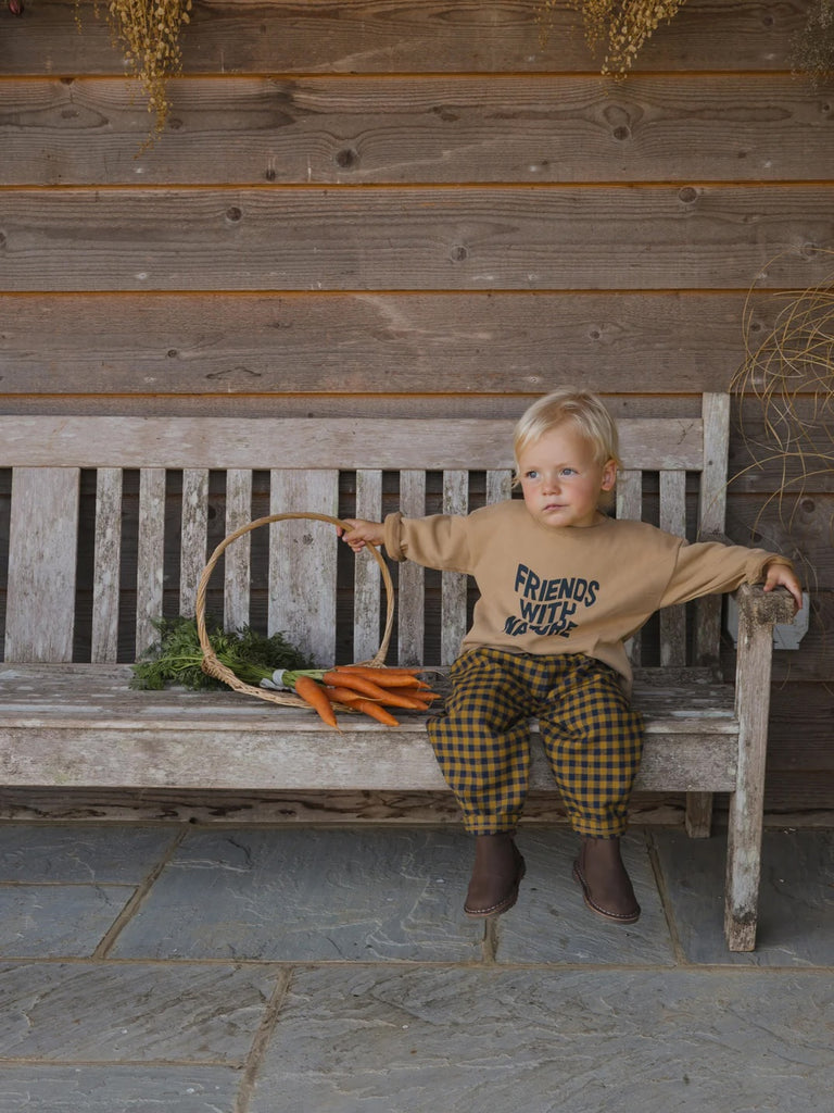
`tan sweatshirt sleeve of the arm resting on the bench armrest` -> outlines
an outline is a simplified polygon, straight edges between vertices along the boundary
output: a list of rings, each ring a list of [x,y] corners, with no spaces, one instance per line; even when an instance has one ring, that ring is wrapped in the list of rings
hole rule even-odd
[[[764,549],[726,545],[717,541],[682,542],[661,607],[685,603],[699,595],[735,591],[743,583],[761,583],[768,564],[793,564]]]

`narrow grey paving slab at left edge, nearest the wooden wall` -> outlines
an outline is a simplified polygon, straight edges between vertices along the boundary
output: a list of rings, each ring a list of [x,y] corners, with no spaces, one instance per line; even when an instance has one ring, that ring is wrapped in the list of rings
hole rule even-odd
[[[0,824],[0,883],[138,885],[177,837],[163,827]]]

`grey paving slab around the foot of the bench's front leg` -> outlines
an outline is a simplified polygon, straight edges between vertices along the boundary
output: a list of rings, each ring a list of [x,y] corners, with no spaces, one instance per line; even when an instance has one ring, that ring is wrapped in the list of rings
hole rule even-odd
[[[688,962],[834,966],[834,831],[764,833],[756,949],[748,953],[729,952],[724,940],[726,833],[652,837]]]

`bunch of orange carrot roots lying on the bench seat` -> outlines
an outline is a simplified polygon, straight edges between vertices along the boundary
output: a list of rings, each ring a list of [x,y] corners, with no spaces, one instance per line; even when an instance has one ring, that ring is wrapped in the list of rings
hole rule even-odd
[[[282,674],[281,682],[295,688],[305,702],[329,726],[339,729],[336,707],[364,711],[365,715],[398,727],[389,707],[427,711],[438,699],[419,678],[420,669],[387,668],[373,664],[338,664],[326,671],[298,669]]]

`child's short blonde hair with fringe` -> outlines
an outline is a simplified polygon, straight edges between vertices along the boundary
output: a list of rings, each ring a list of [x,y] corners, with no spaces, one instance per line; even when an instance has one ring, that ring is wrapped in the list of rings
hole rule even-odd
[[[613,460],[617,467],[620,466],[617,426],[602,400],[590,391],[563,386],[538,398],[518,418],[513,435],[514,483],[519,482],[518,457],[525,449],[566,422],[570,422],[588,441],[599,465]],[[609,502],[609,493],[600,499],[600,505]]]

